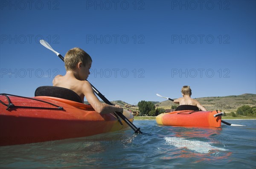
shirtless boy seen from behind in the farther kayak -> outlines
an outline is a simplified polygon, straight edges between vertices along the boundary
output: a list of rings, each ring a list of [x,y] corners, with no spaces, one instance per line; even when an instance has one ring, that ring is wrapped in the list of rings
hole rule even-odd
[[[183,86],[181,89],[182,96],[179,99],[175,99],[173,102],[180,104],[180,105],[192,105],[196,106],[202,111],[207,111],[206,108],[202,104],[200,104],[197,100],[191,99],[190,96],[192,95],[192,90],[190,89],[189,86]]]

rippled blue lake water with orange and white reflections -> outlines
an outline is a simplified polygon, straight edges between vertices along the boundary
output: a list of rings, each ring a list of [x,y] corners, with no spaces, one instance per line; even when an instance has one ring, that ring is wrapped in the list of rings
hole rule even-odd
[[[256,120],[225,121],[246,126],[160,127],[154,120],[136,120],[143,134],[129,129],[2,146],[0,168],[255,169]]]

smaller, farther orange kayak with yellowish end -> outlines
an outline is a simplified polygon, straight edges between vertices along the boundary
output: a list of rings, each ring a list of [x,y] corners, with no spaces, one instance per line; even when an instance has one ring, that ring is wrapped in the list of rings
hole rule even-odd
[[[181,110],[157,115],[160,126],[221,127],[221,115],[217,111]]]

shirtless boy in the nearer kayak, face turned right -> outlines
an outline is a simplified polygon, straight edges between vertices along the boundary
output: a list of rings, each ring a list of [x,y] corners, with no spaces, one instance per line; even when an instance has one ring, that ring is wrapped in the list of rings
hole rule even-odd
[[[70,49],[64,57],[66,74],[64,76],[57,75],[52,81],[53,86],[64,87],[76,92],[81,101],[84,101],[84,96],[93,107],[93,109],[100,114],[107,114],[113,112],[123,112],[119,105],[108,105],[101,103],[87,77],[90,74],[90,67],[92,59],[85,51],[80,48]]]

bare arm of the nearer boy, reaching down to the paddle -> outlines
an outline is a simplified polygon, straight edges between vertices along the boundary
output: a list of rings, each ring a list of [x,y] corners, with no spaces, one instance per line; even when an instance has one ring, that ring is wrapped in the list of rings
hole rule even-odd
[[[84,85],[82,88],[83,88],[83,93],[85,98],[97,113],[107,114],[107,113],[113,113],[115,111],[116,112],[123,111],[123,109],[119,105],[112,106],[99,101],[89,82],[84,81]]]

